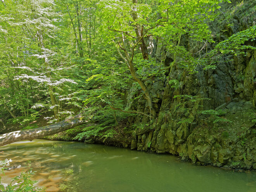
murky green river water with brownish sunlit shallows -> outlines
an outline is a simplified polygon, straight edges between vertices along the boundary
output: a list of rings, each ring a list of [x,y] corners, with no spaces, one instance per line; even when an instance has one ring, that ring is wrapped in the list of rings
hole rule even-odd
[[[255,192],[256,172],[239,173],[104,145],[34,140],[0,147],[0,160],[21,165],[2,182],[25,170],[37,171],[37,186],[64,192]]]

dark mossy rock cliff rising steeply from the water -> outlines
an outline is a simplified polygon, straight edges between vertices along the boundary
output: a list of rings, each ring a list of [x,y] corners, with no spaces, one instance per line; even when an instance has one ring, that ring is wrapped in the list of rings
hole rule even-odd
[[[236,2],[227,5],[225,9],[234,10],[233,17],[231,13],[227,16],[228,12],[222,12],[220,17],[225,19],[211,24],[216,42],[255,25],[256,12],[251,11],[249,16],[244,12],[256,3],[243,3],[238,8]],[[255,40],[247,43],[256,47]],[[181,38],[181,45],[189,48],[190,44],[185,36]],[[147,45],[156,61],[166,57],[166,66],[173,61],[173,55],[165,51],[160,40],[150,36]],[[208,50],[215,45],[209,44]],[[132,137],[125,134],[105,139],[94,137],[90,142],[170,153],[199,165],[256,170],[256,51],[246,50],[246,55],[220,55],[215,69],[205,71],[197,67],[197,71],[189,75],[176,66],[168,73],[145,81],[157,118],[130,117],[126,127],[136,131]],[[178,86],[172,86],[169,80],[175,80]],[[133,84],[127,94],[127,108],[148,112],[144,99],[134,99],[140,92]]]

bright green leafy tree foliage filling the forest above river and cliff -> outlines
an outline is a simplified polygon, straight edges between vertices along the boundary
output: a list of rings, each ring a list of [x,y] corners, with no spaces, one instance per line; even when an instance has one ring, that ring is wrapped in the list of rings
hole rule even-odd
[[[214,69],[216,66],[211,64],[222,57],[220,54],[238,54],[240,50],[255,48],[247,45],[255,40],[256,29],[252,26],[219,43],[207,57],[203,56],[202,50],[207,49],[208,43],[214,43],[209,22],[218,16],[220,3],[229,0],[134,2],[2,1],[1,122],[19,123],[23,129],[36,128],[34,123],[42,117],[55,123],[83,108],[90,118],[89,126],[81,133],[70,130],[76,135],[74,139],[114,137],[116,128],[120,133],[122,122],[135,115],[125,113],[133,107],[126,105],[130,102],[126,93],[131,87],[132,100],[142,101],[152,97],[147,90],[152,83],[169,73],[167,83],[177,93],[185,81],[170,79],[174,67],[188,74],[196,73],[199,66]],[[237,4],[230,10],[230,17],[243,7],[242,2]],[[243,22],[251,16],[249,12],[244,11]],[[232,23],[226,27],[216,35],[219,40]],[[161,61],[143,57],[142,41],[146,47],[154,48],[149,41],[152,37],[162,46]],[[182,42],[184,37],[188,46]],[[167,61],[167,55],[172,61]],[[244,76],[237,76],[237,80],[244,81]],[[186,117],[178,123],[192,123],[191,116],[198,114],[203,99],[192,95],[175,95],[174,99],[175,111]],[[168,110],[160,113],[158,122],[170,119],[170,113]],[[220,117],[219,111],[202,114],[214,117],[215,123],[227,121]],[[150,125],[152,122],[133,125],[133,137],[137,130]]]

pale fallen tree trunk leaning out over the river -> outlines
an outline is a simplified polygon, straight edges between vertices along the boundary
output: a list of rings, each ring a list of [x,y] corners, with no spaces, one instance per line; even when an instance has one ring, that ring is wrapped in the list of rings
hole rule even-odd
[[[59,123],[43,126],[36,129],[14,131],[0,135],[0,146],[11,144],[21,140],[32,141],[35,138],[45,137],[47,135],[53,135],[76,126],[86,123],[84,115],[78,114],[71,118],[65,119]]]

